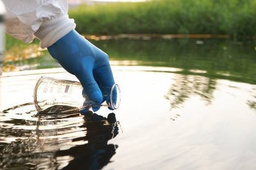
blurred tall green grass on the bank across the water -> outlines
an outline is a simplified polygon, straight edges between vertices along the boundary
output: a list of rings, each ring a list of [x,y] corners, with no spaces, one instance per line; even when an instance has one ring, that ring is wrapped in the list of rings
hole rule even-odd
[[[86,35],[227,34],[237,40],[255,36],[255,9],[254,0],[155,0],[82,5],[69,16]]]

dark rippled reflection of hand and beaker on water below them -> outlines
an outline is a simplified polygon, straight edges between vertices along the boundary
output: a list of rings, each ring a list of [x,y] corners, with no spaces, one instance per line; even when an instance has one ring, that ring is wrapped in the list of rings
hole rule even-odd
[[[116,153],[117,145],[108,144],[119,130],[114,113],[107,118],[92,113],[24,113],[33,107],[20,105],[0,114],[0,167],[100,169]],[[28,118],[14,118],[17,114]]]

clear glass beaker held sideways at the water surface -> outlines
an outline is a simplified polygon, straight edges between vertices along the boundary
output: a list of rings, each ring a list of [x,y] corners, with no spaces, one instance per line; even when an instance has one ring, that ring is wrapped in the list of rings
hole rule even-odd
[[[95,103],[85,94],[82,95],[82,91],[80,82],[41,77],[34,89],[34,105],[39,113],[49,108],[51,109],[47,113],[82,111],[92,106],[107,106],[112,109],[119,107],[121,98],[118,84],[114,84],[111,89],[103,90],[103,97],[109,101],[102,104]],[[110,94],[107,94],[107,91],[110,91]]]

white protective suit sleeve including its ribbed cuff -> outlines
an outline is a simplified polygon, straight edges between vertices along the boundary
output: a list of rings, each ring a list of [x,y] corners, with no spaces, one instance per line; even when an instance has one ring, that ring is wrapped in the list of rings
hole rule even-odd
[[[41,48],[46,48],[76,27],[74,20],[68,18],[67,0],[2,2],[6,9],[6,32],[25,43],[37,37],[41,40]]]

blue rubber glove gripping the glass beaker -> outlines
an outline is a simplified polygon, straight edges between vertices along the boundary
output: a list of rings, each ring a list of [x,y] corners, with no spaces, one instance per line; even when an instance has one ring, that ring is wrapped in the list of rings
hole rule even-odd
[[[75,30],[71,30],[47,49],[64,69],[78,78],[83,86],[83,94],[85,93],[97,104],[105,100],[109,103],[110,98],[103,97],[102,93],[110,94],[115,81],[106,53]],[[92,107],[94,112],[99,108],[99,106]],[[82,113],[85,112],[87,109],[84,109]]]

